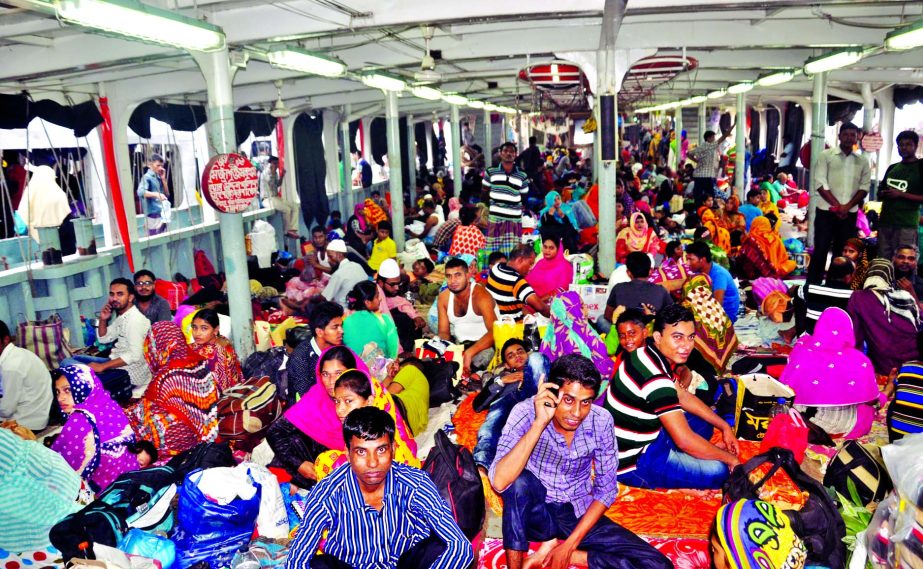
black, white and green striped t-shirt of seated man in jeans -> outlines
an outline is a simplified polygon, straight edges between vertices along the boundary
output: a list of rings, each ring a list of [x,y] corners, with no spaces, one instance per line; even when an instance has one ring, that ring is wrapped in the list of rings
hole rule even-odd
[[[669,361],[652,345],[622,358],[606,392],[619,451],[619,474],[637,468],[638,458],[660,434],[660,417],[682,411]]]

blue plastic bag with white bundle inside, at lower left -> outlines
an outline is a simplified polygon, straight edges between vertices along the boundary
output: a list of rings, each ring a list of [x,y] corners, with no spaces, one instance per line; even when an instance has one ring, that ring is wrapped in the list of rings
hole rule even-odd
[[[211,471],[233,472],[232,468],[212,468]],[[201,561],[212,569],[230,564],[234,553],[250,543],[260,512],[260,486],[248,476],[256,492],[249,499],[236,498],[219,504],[199,488],[205,470],[195,470],[186,476],[179,492],[177,526],[172,535],[176,544],[176,563],[188,569]],[[233,476],[228,473],[229,476]]]

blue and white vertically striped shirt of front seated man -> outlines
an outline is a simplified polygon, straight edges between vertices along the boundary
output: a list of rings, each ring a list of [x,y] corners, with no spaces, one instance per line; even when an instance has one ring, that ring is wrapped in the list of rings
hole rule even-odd
[[[446,543],[433,569],[463,569],[474,560],[471,543],[422,470],[392,463],[382,502],[380,512],[366,504],[349,464],[337,468],[308,495],[286,568],[310,567],[324,530],[324,552],[356,569],[396,567],[404,552],[430,534]]]

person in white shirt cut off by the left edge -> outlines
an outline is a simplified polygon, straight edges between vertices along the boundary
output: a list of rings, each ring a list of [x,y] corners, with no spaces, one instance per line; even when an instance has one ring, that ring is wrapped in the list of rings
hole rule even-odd
[[[51,374],[38,356],[13,345],[0,320],[0,421],[13,420],[33,431],[48,426],[53,399]]]

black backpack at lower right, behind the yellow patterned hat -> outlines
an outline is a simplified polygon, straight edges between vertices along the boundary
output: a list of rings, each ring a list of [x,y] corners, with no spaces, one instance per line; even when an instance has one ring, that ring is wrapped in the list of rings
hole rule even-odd
[[[750,473],[765,463],[772,465],[769,472],[759,481],[750,482]],[[843,538],[846,537],[846,524],[843,517],[821,483],[802,472],[792,451],[774,447],[735,468],[724,483],[725,501],[759,499],[760,487],[780,468],[800,490],[808,493],[803,508],[785,512],[791,519],[795,534],[804,541],[808,550],[807,565],[833,569],[845,567],[846,544]]]

